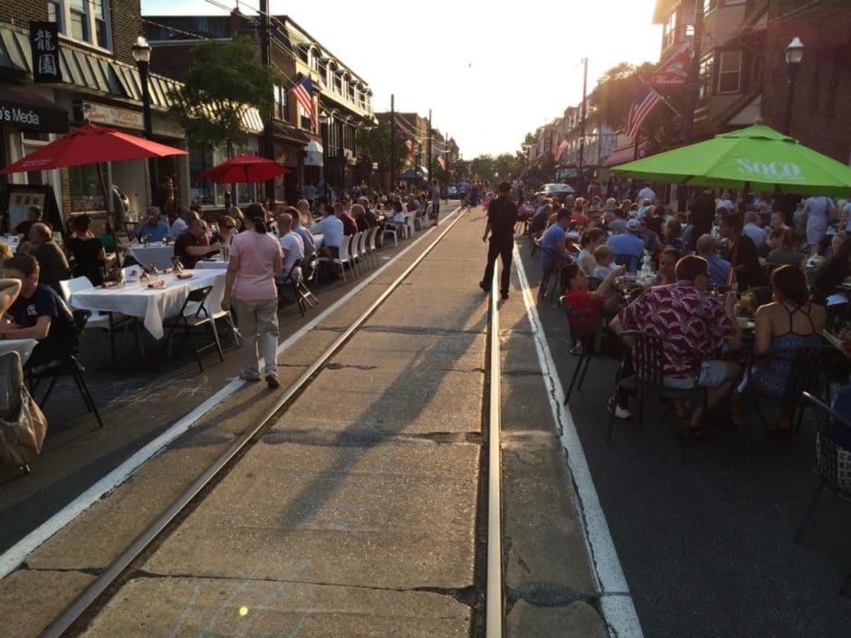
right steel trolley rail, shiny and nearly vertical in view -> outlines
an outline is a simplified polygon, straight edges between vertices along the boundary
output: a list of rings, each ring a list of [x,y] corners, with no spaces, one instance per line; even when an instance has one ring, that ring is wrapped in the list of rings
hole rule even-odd
[[[484,633],[486,638],[502,638],[502,457],[500,453],[500,309],[498,269],[491,283],[490,366],[488,401],[488,551],[485,592]]]

